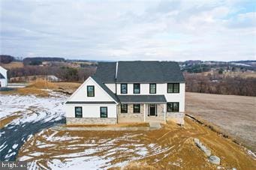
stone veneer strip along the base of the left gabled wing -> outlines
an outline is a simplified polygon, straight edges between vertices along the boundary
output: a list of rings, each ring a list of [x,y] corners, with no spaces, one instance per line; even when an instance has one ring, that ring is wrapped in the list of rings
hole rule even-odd
[[[116,124],[117,118],[66,118],[66,124]]]

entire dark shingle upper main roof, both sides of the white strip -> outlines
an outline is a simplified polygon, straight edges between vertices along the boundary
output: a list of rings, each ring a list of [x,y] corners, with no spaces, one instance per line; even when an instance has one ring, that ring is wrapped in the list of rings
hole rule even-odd
[[[179,64],[173,61],[119,61],[99,63],[95,76],[102,82],[185,82]]]

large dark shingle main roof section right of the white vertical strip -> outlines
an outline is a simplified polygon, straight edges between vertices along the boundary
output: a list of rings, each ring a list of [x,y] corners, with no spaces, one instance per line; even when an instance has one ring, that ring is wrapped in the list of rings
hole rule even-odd
[[[176,62],[119,61],[116,82],[185,82],[185,79]]]

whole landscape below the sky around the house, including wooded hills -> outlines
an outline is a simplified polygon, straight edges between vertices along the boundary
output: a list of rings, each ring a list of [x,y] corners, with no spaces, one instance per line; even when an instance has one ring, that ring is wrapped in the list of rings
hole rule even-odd
[[[10,88],[0,91],[0,158],[27,161],[29,169],[256,169],[255,64],[245,63],[247,70],[203,62],[211,71],[202,73],[193,73],[201,62],[180,63],[187,81],[183,127],[167,121],[155,130],[119,124],[96,131],[67,127],[64,103],[97,62],[27,58],[1,64]],[[102,130],[119,127],[135,130]],[[194,139],[221,164],[209,163]]]

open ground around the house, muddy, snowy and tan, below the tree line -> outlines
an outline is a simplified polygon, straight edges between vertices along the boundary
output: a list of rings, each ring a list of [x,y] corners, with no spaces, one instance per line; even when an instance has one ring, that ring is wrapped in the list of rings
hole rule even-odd
[[[26,160],[30,169],[256,169],[254,97],[187,93],[186,112],[197,119],[186,117],[184,127],[167,122],[149,131],[59,130],[65,93],[79,85],[38,80],[0,92],[2,160]],[[220,166],[209,163],[194,138],[221,158]]]

